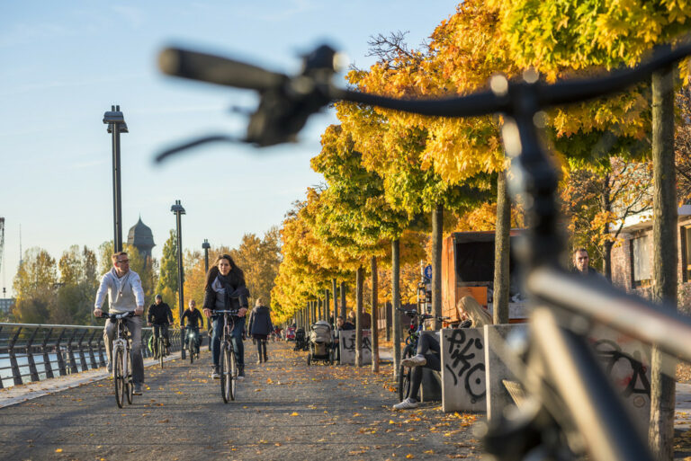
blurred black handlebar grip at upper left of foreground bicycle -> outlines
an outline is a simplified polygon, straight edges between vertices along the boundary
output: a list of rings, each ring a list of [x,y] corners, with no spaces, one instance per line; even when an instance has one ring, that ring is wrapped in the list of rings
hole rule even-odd
[[[257,91],[276,87],[287,80],[285,75],[261,67],[178,48],[161,51],[158,67],[167,75]]]

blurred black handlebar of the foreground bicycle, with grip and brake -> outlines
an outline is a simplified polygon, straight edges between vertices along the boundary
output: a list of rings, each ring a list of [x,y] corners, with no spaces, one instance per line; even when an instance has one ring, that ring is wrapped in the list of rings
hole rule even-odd
[[[337,88],[331,81],[336,73],[336,51],[326,45],[315,49],[305,58],[302,73],[292,77],[234,59],[186,49],[164,49],[158,63],[167,75],[261,93],[261,102],[250,119],[244,141],[257,146],[271,146],[294,140],[311,114],[335,100],[430,116],[472,117],[495,112],[525,111],[525,107],[516,107],[508,94],[511,89],[531,86],[535,89],[536,102],[530,110],[537,111],[622,92],[654,71],[671,66],[688,55],[691,55],[691,43],[684,43],[676,49],[657,49],[652,58],[640,66],[605,76],[565,80],[555,84],[528,84],[508,82],[505,77],[498,75],[493,77],[490,91],[426,100],[401,100]],[[188,146],[194,145],[190,143]]]

